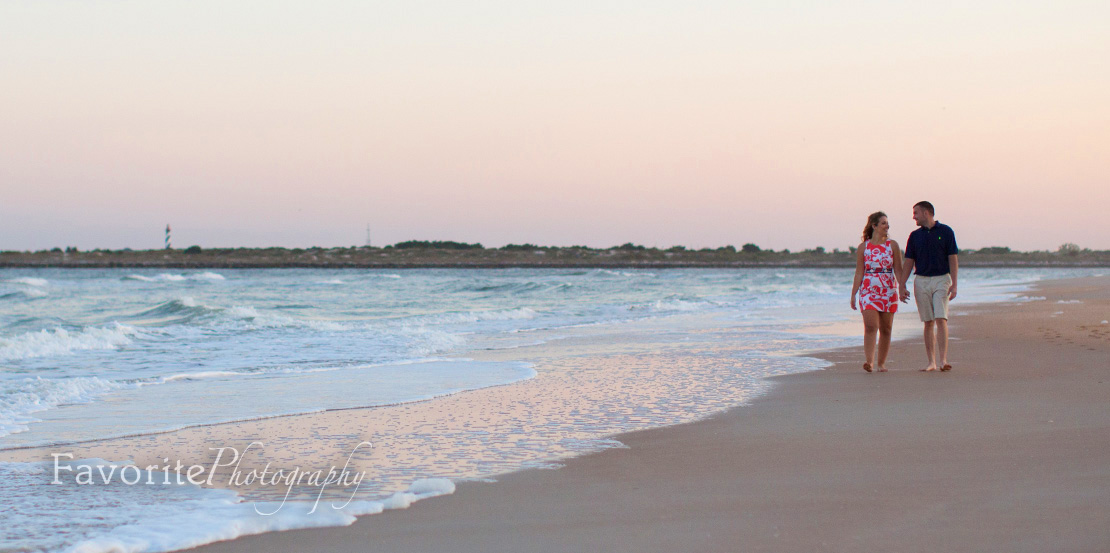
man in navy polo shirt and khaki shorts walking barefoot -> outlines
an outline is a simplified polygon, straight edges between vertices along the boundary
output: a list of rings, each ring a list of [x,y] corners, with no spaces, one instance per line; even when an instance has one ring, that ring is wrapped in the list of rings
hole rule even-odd
[[[898,282],[901,301],[909,299],[906,281],[909,272],[917,268],[914,278],[914,295],[917,311],[925,323],[925,353],[929,365],[922,371],[936,371],[937,358],[940,370],[950,371],[948,363],[948,302],[956,299],[956,276],[959,262],[956,258],[956,233],[951,227],[937,222],[936,211],[929,202],[914,204],[914,222],[919,227],[910,232],[906,241],[906,261]]]

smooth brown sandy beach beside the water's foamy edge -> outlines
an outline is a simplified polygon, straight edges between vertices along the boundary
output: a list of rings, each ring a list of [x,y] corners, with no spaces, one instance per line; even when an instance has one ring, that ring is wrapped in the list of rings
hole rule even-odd
[[[190,551],[1097,550],[1110,543],[1110,453],[1091,446],[1110,430],[1108,284],[953,304],[951,373],[910,366],[919,340],[891,344],[886,374],[859,370],[859,348],[809,354],[834,365],[614,436],[626,449],[461,482],[351,526]]]

